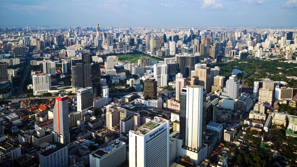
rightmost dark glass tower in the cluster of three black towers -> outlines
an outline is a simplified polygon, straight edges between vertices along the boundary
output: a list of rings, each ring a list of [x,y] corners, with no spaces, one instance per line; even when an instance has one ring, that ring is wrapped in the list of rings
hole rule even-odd
[[[101,96],[101,71],[100,71],[100,63],[92,64],[92,87],[93,87],[93,98]]]

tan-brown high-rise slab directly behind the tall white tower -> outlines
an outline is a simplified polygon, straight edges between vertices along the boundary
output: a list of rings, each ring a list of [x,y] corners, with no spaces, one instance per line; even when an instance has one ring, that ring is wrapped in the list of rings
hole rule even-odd
[[[201,85],[210,92],[210,75],[211,69],[209,67],[202,67],[195,69],[195,76],[198,76],[198,85]]]

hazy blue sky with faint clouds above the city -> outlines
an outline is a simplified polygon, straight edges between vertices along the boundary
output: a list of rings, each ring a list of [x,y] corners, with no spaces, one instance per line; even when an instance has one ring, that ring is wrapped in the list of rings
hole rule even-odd
[[[297,26],[297,0],[0,0],[0,26]]]

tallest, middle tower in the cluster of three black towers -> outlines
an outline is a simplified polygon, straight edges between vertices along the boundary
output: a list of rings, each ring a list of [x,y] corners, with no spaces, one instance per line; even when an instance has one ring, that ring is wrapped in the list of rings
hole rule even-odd
[[[92,86],[91,81],[91,54],[81,53],[83,70],[83,88]]]

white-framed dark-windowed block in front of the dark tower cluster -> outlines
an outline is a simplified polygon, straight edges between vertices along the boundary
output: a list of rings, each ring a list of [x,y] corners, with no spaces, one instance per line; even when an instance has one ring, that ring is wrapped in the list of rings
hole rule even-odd
[[[79,88],[77,90],[77,111],[83,113],[93,107],[93,88]]]

